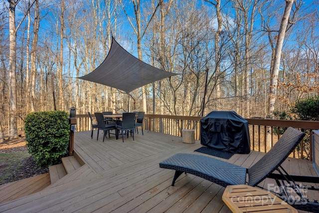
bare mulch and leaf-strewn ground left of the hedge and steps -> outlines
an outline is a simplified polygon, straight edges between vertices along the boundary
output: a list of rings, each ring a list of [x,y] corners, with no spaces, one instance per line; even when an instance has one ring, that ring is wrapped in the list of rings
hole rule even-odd
[[[0,143],[0,185],[48,173],[35,166],[23,138]]]

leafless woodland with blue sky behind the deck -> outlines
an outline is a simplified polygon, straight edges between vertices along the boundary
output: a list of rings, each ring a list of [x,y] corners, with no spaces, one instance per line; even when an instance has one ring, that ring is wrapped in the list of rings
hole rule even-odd
[[[127,111],[128,95],[149,114],[272,118],[319,92],[317,0],[3,0],[0,19],[0,140],[29,112]],[[112,35],[179,75],[130,94],[77,79]]]

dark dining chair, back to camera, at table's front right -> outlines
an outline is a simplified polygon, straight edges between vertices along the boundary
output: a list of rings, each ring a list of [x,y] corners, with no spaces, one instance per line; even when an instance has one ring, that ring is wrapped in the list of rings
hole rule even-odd
[[[134,141],[134,129],[135,129],[135,115],[134,112],[127,112],[123,113],[122,121],[116,124],[116,139],[119,138],[119,131],[122,133],[122,140],[124,142],[124,132],[129,137],[129,132],[131,135],[133,134],[133,141]]]

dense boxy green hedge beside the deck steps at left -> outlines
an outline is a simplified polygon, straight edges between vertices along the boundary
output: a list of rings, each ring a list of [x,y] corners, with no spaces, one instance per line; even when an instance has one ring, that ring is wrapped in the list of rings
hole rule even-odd
[[[26,147],[39,168],[61,163],[69,145],[70,126],[64,111],[35,112],[24,121]]]

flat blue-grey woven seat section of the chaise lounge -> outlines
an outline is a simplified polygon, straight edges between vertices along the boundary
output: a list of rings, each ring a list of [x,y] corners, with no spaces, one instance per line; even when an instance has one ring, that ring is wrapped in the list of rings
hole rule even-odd
[[[160,168],[193,174],[224,187],[246,183],[246,168],[203,155],[178,153],[162,161]]]

